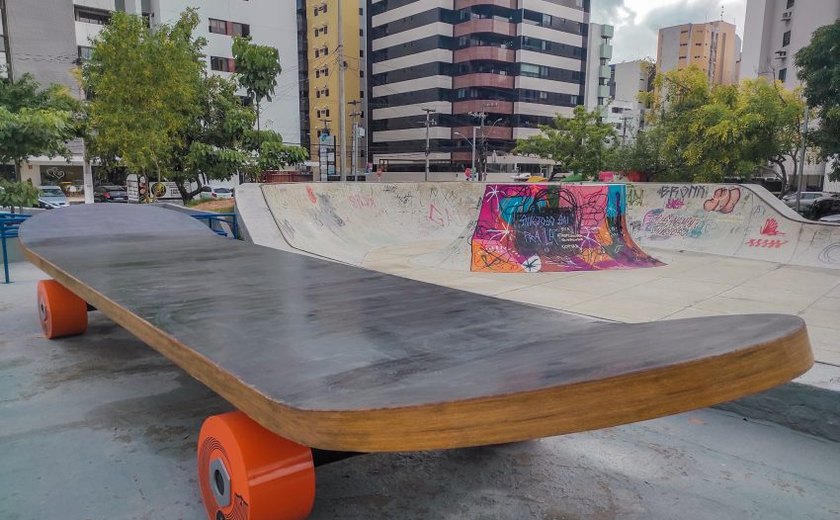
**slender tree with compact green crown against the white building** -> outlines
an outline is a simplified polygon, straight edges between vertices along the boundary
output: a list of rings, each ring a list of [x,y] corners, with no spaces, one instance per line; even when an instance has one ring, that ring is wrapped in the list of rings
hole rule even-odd
[[[233,57],[236,61],[236,78],[257,108],[257,130],[260,129],[260,103],[271,101],[277,76],[280,75],[280,54],[274,47],[251,43],[250,37],[233,39]]]

